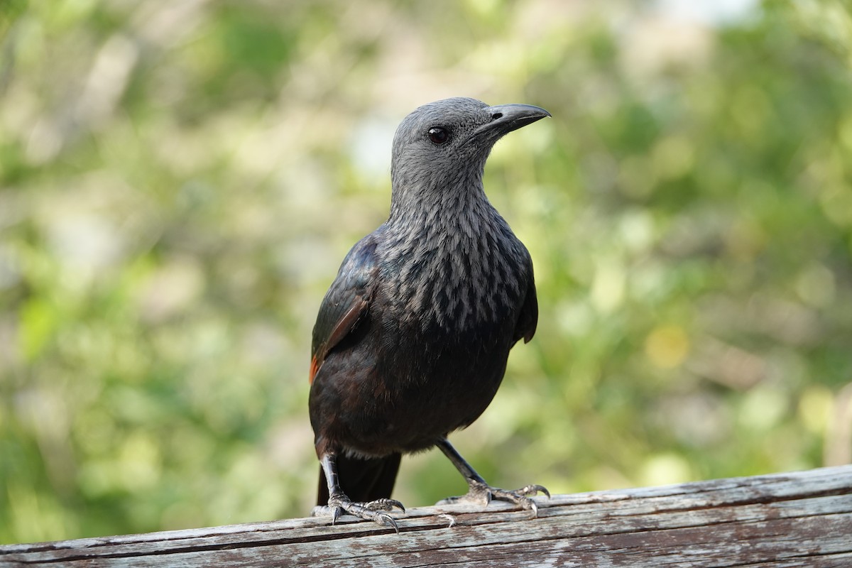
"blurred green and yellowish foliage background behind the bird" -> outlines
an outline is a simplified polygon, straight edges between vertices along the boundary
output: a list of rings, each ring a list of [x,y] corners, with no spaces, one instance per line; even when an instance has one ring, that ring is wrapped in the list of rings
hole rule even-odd
[[[0,542],[308,513],[316,309],[452,95],[554,117],[486,170],[541,304],[487,479],[849,462],[852,18],[711,4],[0,2]]]

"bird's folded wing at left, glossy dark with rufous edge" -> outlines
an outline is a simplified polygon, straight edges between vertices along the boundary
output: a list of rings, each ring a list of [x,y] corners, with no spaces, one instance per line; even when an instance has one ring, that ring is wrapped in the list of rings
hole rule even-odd
[[[331,349],[354,330],[370,305],[377,272],[375,250],[376,243],[369,236],[355,244],[343,259],[331,288],[325,293],[314,324],[310,382],[314,382],[314,376]]]

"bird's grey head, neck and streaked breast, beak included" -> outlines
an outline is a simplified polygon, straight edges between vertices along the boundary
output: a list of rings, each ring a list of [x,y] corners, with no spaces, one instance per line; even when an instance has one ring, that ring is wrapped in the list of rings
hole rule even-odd
[[[380,255],[387,296],[401,313],[458,330],[511,319],[532,281],[531,261],[488,203],[482,170],[503,135],[549,116],[538,106],[456,98],[400,123]]]

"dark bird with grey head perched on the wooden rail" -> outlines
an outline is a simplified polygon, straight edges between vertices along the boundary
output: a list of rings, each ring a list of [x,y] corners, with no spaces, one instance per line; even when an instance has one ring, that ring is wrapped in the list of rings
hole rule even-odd
[[[538,513],[542,485],[488,485],[447,440],[503,380],[509,350],[538,323],[533,261],[483,187],[509,132],[550,117],[533,105],[454,97],[417,107],[394,134],[387,221],[343,259],[320,304],[308,410],[320,484],[314,515],[343,513],[399,532],[389,514],[403,454],[438,447],[469,491]]]

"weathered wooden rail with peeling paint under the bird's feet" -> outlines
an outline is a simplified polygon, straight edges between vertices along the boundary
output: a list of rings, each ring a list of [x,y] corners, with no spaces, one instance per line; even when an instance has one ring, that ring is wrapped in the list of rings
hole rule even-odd
[[[852,566],[852,466],[537,502],[411,509],[399,535],[343,517],[16,544],[0,566]]]

